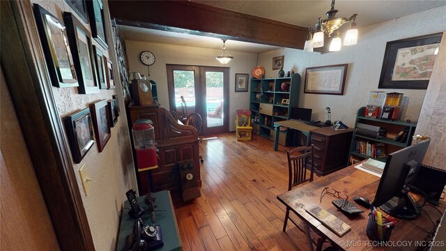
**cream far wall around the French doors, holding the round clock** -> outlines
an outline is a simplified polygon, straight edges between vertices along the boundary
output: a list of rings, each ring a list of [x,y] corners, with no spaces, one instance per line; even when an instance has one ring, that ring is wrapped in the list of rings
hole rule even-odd
[[[167,90],[166,64],[192,65],[192,66],[217,66],[222,67],[215,56],[222,50],[203,49],[199,47],[186,47],[179,45],[165,45],[160,43],[145,43],[137,41],[125,41],[130,72],[139,72],[147,76],[148,70],[141,61],[139,54],[148,50],[155,54],[155,63],[150,66],[152,79],[157,84],[158,101],[169,109],[169,91]],[[229,67],[229,130],[235,131],[236,110],[249,109],[249,91],[235,92],[236,73],[247,73],[250,77],[252,68],[256,65],[257,54],[231,51],[231,41],[226,41],[226,48],[234,57],[223,67]],[[249,88],[249,86],[248,86]]]

